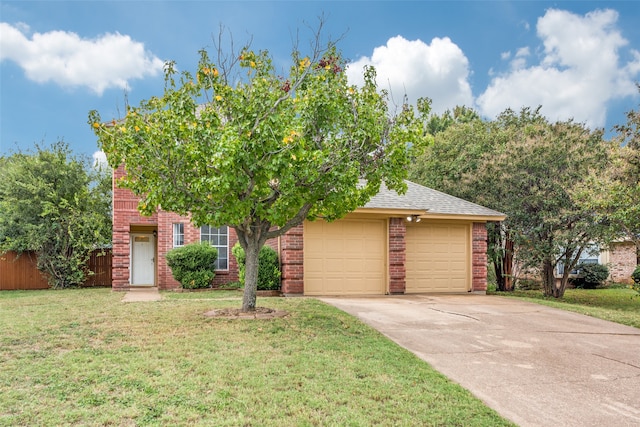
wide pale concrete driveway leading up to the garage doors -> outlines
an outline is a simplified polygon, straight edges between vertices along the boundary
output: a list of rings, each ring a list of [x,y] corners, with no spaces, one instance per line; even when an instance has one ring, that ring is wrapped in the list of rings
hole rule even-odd
[[[321,300],[520,426],[640,426],[636,328],[485,295]]]

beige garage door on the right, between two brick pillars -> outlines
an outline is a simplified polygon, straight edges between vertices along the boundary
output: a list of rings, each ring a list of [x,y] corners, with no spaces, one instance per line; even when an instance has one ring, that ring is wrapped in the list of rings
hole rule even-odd
[[[469,224],[407,224],[406,292],[467,292],[470,234]]]

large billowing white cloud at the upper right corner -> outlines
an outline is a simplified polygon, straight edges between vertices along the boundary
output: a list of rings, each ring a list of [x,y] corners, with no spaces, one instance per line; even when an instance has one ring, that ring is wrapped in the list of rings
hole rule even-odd
[[[634,95],[640,72],[640,53],[620,64],[619,51],[627,45],[616,28],[618,13],[596,10],[584,16],[550,9],[538,19],[543,43],[538,64],[526,67],[529,49],[518,50],[510,71],[494,77],[477,99],[483,115],[495,117],[506,108],[542,105],[552,120],[574,118],[590,127],[602,127],[607,103]],[[503,59],[508,59],[504,57]]]

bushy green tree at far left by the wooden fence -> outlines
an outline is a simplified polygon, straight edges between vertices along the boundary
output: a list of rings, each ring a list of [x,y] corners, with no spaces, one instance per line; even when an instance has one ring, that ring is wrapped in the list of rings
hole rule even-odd
[[[0,252],[35,251],[54,288],[84,283],[90,252],[111,241],[110,173],[64,142],[1,163]]]

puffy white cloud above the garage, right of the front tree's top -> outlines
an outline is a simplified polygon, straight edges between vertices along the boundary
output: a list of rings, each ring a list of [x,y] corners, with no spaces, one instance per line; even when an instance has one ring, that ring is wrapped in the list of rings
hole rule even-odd
[[[434,38],[431,44],[402,36],[390,38],[386,45],[376,47],[370,58],[349,64],[350,83],[363,82],[365,65],[375,67],[378,87],[389,90],[398,104],[406,93],[412,104],[420,97],[431,98],[436,113],[456,105],[473,105],[469,61],[448,37]]]

